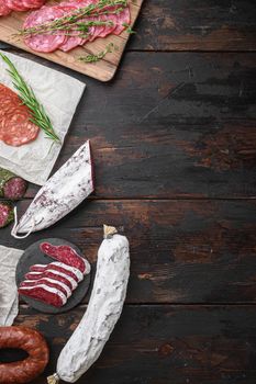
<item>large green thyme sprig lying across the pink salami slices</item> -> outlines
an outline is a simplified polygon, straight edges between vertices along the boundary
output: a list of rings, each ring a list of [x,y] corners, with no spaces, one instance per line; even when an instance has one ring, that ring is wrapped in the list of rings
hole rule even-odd
[[[108,10],[109,8],[113,8]],[[30,36],[34,34],[44,34],[48,32],[54,32],[56,30],[63,30],[66,27],[76,27],[78,21],[86,16],[98,16],[102,14],[118,14],[122,12],[127,7],[127,0],[99,0],[98,3],[89,4],[88,7],[79,8],[68,15],[62,16],[54,21],[35,25],[33,27],[27,27],[19,31],[18,35]],[[105,10],[105,8],[108,8]]]

